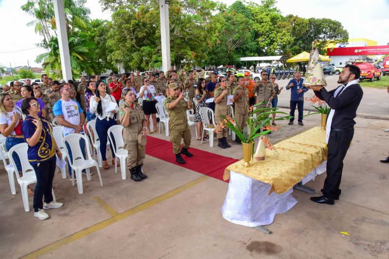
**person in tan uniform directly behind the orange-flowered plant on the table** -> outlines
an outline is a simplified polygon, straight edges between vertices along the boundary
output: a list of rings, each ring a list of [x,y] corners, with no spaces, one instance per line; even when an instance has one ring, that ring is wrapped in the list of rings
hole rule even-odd
[[[232,91],[235,102],[235,120],[239,127],[243,129],[246,127],[247,117],[248,117],[248,90],[245,87],[245,78],[240,76],[238,77],[238,87],[235,87]],[[239,138],[235,139],[236,143],[241,144]]]

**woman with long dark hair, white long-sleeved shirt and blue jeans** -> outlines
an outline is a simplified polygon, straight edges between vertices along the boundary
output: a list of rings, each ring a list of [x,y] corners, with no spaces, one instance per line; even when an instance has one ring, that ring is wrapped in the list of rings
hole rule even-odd
[[[103,161],[104,169],[108,169],[106,162],[106,142],[108,129],[116,125],[115,113],[118,112],[119,107],[113,96],[109,94],[109,89],[106,87],[104,81],[96,82],[96,94],[90,98],[89,112],[96,114],[96,131],[100,139],[100,153]],[[112,139],[113,136],[111,136]],[[113,150],[112,143],[110,143],[111,151]],[[112,164],[115,164],[115,154],[112,152]],[[119,164],[118,164],[119,166]]]

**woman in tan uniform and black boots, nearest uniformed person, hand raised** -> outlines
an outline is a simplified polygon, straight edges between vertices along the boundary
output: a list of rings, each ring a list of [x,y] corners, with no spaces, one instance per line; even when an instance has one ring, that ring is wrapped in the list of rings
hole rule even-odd
[[[139,145],[138,137],[146,137],[146,117],[139,103],[135,102],[135,93],[129,88],[122,92],[124,103],[119,109],[120,124],[123,129],[124,149],[128,151],[127,167],[131,179],[138,182],[147,178],[142,172],[145,157],[144,146]],[[141,136],[139,136],[141,135]]]

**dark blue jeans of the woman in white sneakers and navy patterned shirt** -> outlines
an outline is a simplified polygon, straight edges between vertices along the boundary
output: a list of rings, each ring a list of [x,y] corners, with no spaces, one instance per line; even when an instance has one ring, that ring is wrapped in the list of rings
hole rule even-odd
[[[43,209],[43,197],[45,197],[46,203],[53,201],[52,188],[55,166],[55,157],[52,160],[40,162],[39,166],[38,164],[32,164],[36,175],[33,205],[35,212],[38,212],[38,209]]]

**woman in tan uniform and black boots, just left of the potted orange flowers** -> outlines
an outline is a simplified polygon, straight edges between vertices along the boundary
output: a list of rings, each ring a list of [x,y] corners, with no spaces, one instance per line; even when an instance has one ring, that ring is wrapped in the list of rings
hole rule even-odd
[[[213,92],[213,99],[215,102],[215,122],[216,124],[219,123],[219,121],[223,121],[222,116],[230,116],[231,115],[231,109],[227,105],[227,98],[228,96],[232,95],[232,90],[230,87],[227,86],[227,80],[225,77],[219,78],[219,84],[220,86],[215,89]],[[233,102],[234,99],[231,98],[231,101]],[[228,136],[228,128],[225,127],[224,129],[219,127],[220,129],[217,131],[217,139],[219,140],[219,144],[217,146],[221,148],[231,147],[230,144],[227,143],[227,136]]]

